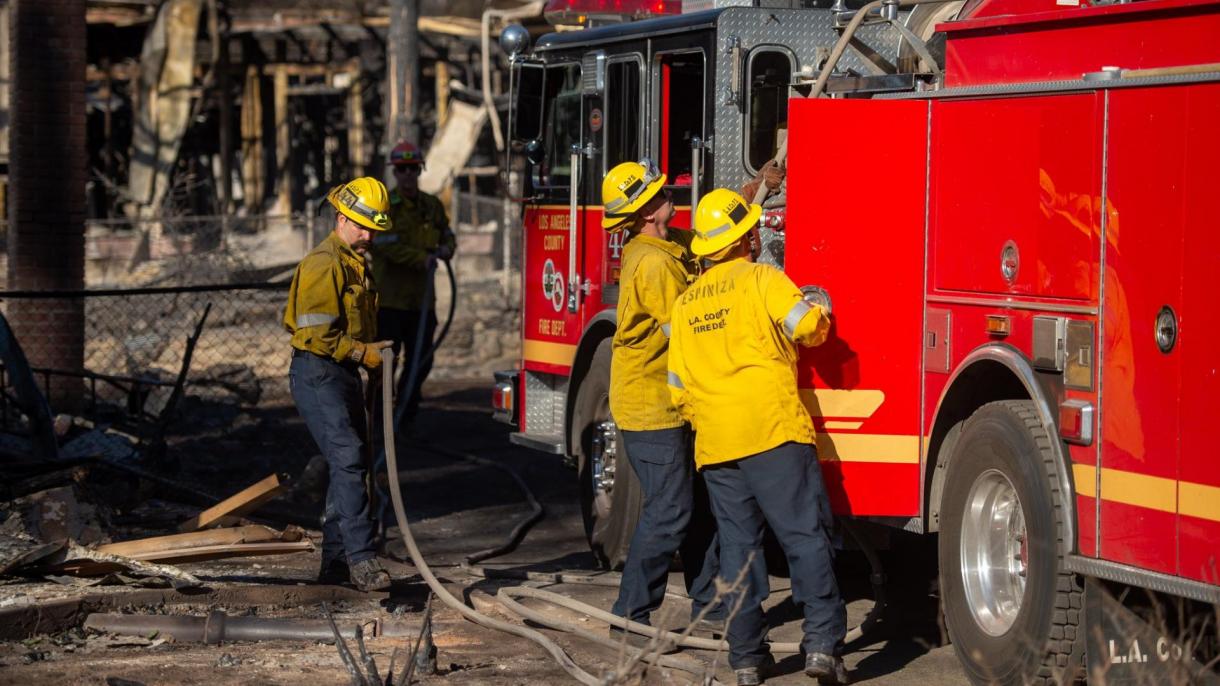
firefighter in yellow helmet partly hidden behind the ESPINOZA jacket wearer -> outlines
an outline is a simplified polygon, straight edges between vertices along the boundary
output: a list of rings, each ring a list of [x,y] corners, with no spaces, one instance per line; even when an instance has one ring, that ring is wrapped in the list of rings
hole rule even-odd
[[[691,233],[672,231],[673,201],[650,160],[622,162],[601,184],[601,226],[625,232],[619,328],[610,361],[610,411],[639,477],[643,508],[627,551],[614,613],[649,624],[665,598],[673,553],[682,555],[692,618],[699,629],[723,627],[715,599],[717,554],[711,518],[698,513],[702,492],[691,460],[691,432],[665,382],[670,309],[694,278]],[[703,500],[705,503],[705,499]],[[705,609],[706,608],[706,609]],[[702,615],[702,618],[700,618]],[[632,635],[639,643],[644,637]]]

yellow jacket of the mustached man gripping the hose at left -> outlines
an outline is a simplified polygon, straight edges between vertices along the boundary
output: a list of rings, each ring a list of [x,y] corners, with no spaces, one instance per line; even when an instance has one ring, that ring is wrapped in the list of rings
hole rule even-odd
[[[365,260],[336,233],[296,265],[288,288],[284,328],[293,348],[344,361],[353,341],[377,338],[377,292]]]

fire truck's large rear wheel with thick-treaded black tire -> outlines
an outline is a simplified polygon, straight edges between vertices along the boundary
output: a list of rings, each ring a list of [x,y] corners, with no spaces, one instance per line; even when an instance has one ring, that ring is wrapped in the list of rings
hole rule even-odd
[[[1004,486],[1004,480],[1009,486]],[[1020,537],[1011,537],[1019,542],[1024,588],[1010,587],[1009,597],[1019,602],[1008,608],[1015,605],[1015,610],[999,605],[991,613],[987,603],[998,603],[1004,597],[1004,579],[1014,575],[999,574],[1000,581],[983,586],[978,583],[980,575],[964,571],[964,561],[969,558],[982,569],[994,569],[983,560],[988,547],[977,541],[996,541],[992,532],[1005,530],[998,524],[996,510],[989,510],[989,518],[985,515],[991,502],[1003,502],[1002,497],[989,500],[987,494],[1004,488],[1015,492],[1024,515],[1024,544]],[[1082,675],[1083,592],[1080,579],[1064,570],[1060,553],[1066,516],[1064,496],[1055,476],[1050,438],[1032,402],[989,403],[965,421],[949,455],[941,507],[939,581],[949,638],[975,684],[1063,684]],[[967,505],[978,508],[971,513],[974,516],[967,516]],[[977,526],[985,520],[988,526]],[[988,535],[993,537],[986,538]],[[1000,548],[993,546],[991,551]],[[1009,559],[1009,555],[996,554],[987,561],[992,559]],[[974,591],[967,590],[971,585]],[[997,619],[1000,616],[1006,616],[1006,623]]]

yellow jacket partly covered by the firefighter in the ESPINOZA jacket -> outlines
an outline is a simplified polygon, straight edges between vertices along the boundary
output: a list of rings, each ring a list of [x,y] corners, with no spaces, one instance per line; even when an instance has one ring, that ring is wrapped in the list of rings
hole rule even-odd
[[[622,250],[619,330],[610,360],[610,413],[620,428],[654,431],[682,426],[665,383],[670,310],[694,280],[691,232],[670,240],[637,234]]]

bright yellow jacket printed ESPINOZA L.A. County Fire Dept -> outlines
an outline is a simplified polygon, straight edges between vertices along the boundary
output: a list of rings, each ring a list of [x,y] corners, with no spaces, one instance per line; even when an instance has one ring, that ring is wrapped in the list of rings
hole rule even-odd
[[[814,443],[797,393],[797,343],[826,341],[826,311],[780,270],[743,259],[709,269],[673,305],[669,389],[695,431],[695,464]]]

